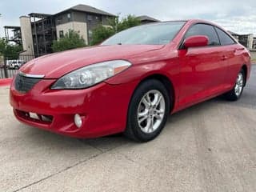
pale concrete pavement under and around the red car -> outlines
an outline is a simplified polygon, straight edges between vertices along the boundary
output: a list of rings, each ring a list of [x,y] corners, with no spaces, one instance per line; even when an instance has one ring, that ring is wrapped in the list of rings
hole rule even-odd
[[[256,191],[256,67],[238,102],[182,110],[142,144],[25,126],[0,98],[0,191]]]

